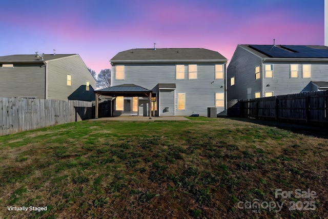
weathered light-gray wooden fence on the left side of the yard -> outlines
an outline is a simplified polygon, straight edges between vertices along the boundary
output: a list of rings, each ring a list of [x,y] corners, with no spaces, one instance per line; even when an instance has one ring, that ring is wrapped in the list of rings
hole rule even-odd
[[[92,103],[0,97],[0,136],[92,118]]]

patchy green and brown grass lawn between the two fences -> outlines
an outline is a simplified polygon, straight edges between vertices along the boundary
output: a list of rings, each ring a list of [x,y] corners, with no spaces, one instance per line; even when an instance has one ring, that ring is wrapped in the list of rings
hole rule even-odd
[[[190,119],[0,136],[0,218],[328,217],[328,136]]]

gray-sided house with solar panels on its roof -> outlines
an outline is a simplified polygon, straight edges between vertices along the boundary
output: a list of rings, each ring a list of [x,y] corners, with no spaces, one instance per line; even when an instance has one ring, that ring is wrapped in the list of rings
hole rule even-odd
[[[328,88],[328,47],[238,45],[227,68],[228,100]]]

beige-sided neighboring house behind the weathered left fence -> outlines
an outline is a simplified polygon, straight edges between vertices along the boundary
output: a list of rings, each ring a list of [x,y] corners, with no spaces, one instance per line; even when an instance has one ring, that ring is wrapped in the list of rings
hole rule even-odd
[[[76,99],[80,86],[93,94],[95,80],[78,54],[0,56],[0,97]]]

